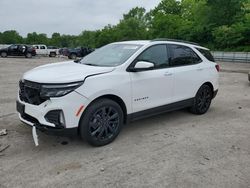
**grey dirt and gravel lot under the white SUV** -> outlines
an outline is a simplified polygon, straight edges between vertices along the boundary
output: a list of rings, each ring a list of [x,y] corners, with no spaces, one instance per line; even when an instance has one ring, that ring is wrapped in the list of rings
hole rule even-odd
[[[244,73],[222,72],[209,112],[186,110],[134,122],[112,144],[39,134],[15,112],[17,83],[53,58],[0,58],[0,187],[250,187],[250,85]],[[250,64],[222,63],[250,70]]]

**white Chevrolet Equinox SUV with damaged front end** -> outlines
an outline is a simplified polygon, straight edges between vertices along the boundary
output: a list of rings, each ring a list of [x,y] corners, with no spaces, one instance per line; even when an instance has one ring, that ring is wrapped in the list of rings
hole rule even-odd
[[[26,72],[17,111],[42,132],[75,133],[102,146],[132,120],[181,108],[206,113],[218,91],[218,72],[209,50],[195,43],[116,42],[80,61]]]

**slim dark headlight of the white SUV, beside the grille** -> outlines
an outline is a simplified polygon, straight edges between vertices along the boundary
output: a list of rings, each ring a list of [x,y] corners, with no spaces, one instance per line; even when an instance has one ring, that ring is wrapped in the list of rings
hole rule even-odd
[[[83,82],[70,84],[45,84],[41,86],[40,96],[42,98],[62,97],[80,87]]]

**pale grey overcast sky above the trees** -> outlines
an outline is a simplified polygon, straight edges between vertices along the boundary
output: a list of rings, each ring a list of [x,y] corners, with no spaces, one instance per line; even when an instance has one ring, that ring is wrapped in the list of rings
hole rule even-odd
[[[0,0],[0,32],[78,35],[116,24],[131,8],[150,10],[160,0]]]

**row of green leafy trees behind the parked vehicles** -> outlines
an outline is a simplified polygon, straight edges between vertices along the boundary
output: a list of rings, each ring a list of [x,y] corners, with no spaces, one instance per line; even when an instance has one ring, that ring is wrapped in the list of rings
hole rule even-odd
[[[0,44],[46,44],[98,48],[123,40],[171,38],[200,43],[216,50],[250,51],[250,0],[162,0],[150,11],[135,7],[117,25],[78,36],[53,33],[0,32]]]

